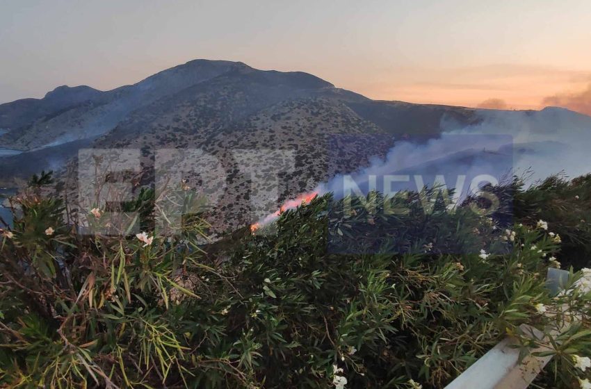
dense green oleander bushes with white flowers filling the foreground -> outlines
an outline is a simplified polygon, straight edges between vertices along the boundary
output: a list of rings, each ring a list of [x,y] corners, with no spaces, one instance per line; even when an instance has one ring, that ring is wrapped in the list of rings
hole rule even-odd
[[[144,190],[113,220],[39,181],[0,232],[0,386],[442,388],[508,335],[554,356],[536,385],[588,384],[591,271],[545,285],[566,242],[589,252],[571,220],[590,211],[588,177],[495,188],[515,196],[511,222],[437,188],[325,195],[209,245],[183,188]],[[160,201],[182,205],[179,229],[154,233]]]

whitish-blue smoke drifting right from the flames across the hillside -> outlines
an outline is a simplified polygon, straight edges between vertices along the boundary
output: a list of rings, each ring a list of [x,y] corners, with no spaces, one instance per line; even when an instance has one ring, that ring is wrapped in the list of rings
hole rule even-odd
[[[552,174],[572,178],[591,172],[591,117],[562,108],[477,114],[480,121],[471,126],[443,119],[439,138],[423,144],[395,142],[385,158],[372,158],[369,166],[335,176],[316,191],[333,192],[338,199],[350,194],[347,184],[354,183],[364,193],[391,193],[390,181],[383,181],[395,175],[397,190],[444,184],[457,190],[459,201],[478,190],[472,180],[483,176],[499,182],[517,174],[531,184]]]

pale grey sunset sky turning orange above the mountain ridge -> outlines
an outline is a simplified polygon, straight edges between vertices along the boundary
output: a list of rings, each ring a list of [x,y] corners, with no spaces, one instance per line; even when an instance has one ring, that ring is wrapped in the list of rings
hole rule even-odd
[[[0,0],[0,103],[196,58],[372,99],[591,115],[591,2]]]

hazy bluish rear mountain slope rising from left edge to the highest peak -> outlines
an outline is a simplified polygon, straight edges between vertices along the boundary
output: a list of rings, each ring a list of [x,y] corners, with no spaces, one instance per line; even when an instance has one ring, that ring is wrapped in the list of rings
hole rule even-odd
[[[0,145],[31,150],[95,138],[138,108],[241,66],[227,61],[196,60],[107,92],[63,86],[40,100],[3,104],[0,113],[6,119],[0,125],[8,133],[0,137]]]

